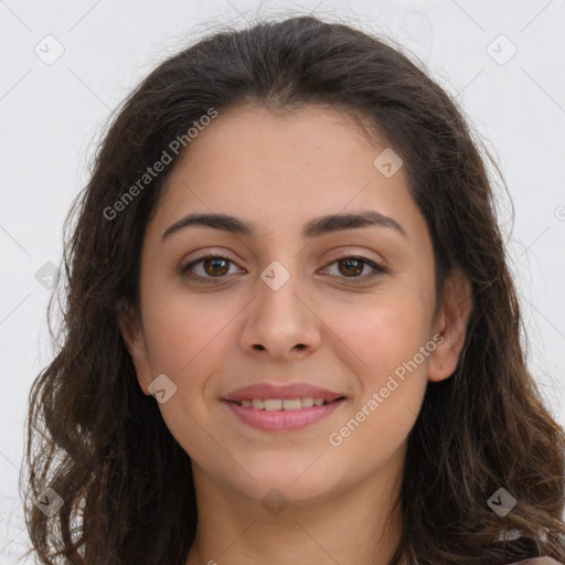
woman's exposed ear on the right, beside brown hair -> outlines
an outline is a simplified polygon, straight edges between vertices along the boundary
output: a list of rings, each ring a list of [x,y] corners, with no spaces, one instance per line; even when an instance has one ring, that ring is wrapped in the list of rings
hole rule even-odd
[[[457,369],[471,309],[471,282],[459,269],[456,269],[446,280],[434,323],[434,335],[440,334],[443,340],[437,340],[436,349],[429,355],[429,381],[444,381]]]

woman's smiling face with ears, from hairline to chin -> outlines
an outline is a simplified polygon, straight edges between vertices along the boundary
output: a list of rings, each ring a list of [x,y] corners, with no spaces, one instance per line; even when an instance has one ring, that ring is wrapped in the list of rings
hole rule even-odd
[[[462,343],[447,299],[433,317],[434,252],[403,168],[377,168],[386,146],[323,108],[220,113],[189,149],[147,226],[141,322],[122,332],[195,480],[298,501],[397,477],[426,385]],[[345,214],[372,221],[315,224]]]

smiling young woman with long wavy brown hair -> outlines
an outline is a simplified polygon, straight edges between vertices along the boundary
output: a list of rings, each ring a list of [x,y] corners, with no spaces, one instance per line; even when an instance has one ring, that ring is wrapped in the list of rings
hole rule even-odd
[[[209,36],[75,212],[30,398],[44,563],[565,561],[490,181],[398,51],[311,17]]]

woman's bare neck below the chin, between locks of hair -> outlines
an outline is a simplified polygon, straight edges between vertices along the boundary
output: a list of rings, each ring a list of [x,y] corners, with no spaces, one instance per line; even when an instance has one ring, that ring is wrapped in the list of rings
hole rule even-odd
[[[399,543],[402,472],[271,512],[194,462],[193,472],[199,523],[186,565],[387,565]]]

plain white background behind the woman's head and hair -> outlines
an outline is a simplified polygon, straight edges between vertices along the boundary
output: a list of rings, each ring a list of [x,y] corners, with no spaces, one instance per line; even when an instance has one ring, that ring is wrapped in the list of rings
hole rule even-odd
[[[63,221],[105,120],[158,62],[203,33],[310,11],[412,50],[494,152],[515,209],[512,225],[502,194],[530,366],[565,425],[564,0],[0,0],[0,564],[28,546],[18,488],[23,426],[32,381],[52,358],[50,291],[35,275],[60,265]],[[64,53],[51,65],[34,51],[46,57],[56,49]]]

